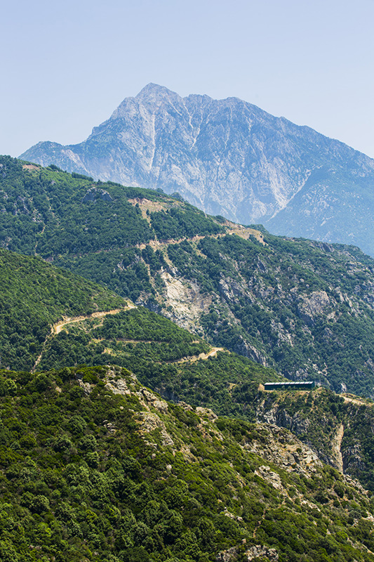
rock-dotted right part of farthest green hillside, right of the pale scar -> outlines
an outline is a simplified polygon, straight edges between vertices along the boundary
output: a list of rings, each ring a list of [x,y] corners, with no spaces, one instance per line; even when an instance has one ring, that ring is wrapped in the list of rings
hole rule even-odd
[[[345,383],[370,396],[373,260],[355,250],[354,261],[347,248],[326,251],[269,234],[264,240],[265,246],[226,235],[205,237],[196,249],[189,242],[168,247],[180,275],[219,296],[201,317],[208,339],[238,353],[255,348],[286,377],[328,382],[338,391]]]

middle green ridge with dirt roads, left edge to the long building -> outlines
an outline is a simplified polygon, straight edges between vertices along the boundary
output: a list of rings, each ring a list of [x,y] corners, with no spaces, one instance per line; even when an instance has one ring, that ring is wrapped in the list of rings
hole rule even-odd
[[[51,370],[115,363],[164,396],[242,417],[246,407],[232,400],[232,384],[251,382],[257,388],[283,380],[274,370],[212,348],[171,320],[135,308],[39,258],[0,250],[0,263],[3,368]]]

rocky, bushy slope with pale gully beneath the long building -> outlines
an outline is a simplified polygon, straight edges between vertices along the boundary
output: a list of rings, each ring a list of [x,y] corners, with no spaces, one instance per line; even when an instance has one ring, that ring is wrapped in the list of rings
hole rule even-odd
[[[312,392],[260,391],[254,405],[259,422],[288,429],[321,461],[373,488],[372,401],[318,388]]]

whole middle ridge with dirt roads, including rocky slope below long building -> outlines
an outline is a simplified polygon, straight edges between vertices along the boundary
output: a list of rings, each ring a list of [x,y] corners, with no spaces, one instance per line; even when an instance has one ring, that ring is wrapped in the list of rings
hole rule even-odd
[[[40,259],[6,250],[0,257],[3,366],[126,367],[175,403],[286,427],[323,462],[374,490],[372,403],[323,389],[264,392],[262,384],[282,380],[274,370],[212,348],[171,320]]]

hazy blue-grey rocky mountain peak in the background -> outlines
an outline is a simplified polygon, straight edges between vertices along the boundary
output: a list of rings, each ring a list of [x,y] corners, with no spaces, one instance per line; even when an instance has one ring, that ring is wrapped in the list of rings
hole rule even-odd
[[[39,143],[21,157],[178,191],[210,214],[374,256],[374,160],[238,98],[181,98],[148,84],[83,143]]]

